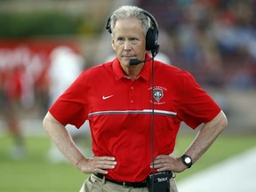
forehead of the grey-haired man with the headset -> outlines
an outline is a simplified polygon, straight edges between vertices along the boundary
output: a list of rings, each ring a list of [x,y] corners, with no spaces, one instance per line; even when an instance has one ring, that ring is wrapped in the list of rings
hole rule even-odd
[[[117,36],[121,34],[141,35],[143,34],[142,22],[136,18],[116,20],[113,32]]]

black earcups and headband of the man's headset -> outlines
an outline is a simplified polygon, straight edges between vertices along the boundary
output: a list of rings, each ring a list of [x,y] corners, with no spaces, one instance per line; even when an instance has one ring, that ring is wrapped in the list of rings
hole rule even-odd
[[[158,24],[155,17],[145,10],[141,11],[143,14],[148,16],[150,19],[150,28],[148,28],[146,34],[146,50],[152,52],[152,57],[154,58],[158,53],[159,44],[158,44]],[[111,17],[108,18],[106,29],[110,34],[112,34],[112,29],[110,26]]]

